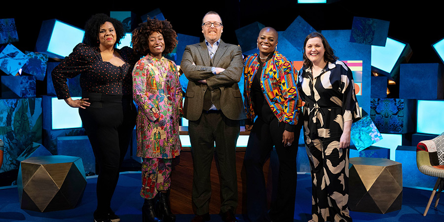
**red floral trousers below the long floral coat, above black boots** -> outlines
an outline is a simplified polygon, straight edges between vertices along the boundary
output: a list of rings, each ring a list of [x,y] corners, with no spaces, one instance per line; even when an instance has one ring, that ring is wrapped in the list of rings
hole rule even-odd
[[[172,159],[143,158],[140,190],[143,198],[152,199],[158,191],[170,189],[171,163]]]

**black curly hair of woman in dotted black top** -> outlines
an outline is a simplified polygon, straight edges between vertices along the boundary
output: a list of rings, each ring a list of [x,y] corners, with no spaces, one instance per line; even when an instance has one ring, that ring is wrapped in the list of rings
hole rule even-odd
[[[105,22],[111,22],[114,26],[114,31],[116,35],[116,41],[115,44],[120,44],[120,39],[125,36],[125,31],[123,30],[123,24],[114,18],[111,18],[108,15],[105,14],[95,14],[93,15],[85,25],[85,37],[83,39],[83,42],[85,44],[88,44],[90,46],[97,47],[99,46],[99,31],[100,27],[102,27]]]

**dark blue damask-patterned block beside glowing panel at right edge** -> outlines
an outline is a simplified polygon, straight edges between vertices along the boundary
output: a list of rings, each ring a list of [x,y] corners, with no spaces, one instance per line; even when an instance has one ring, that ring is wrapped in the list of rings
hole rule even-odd
[[[370,117],[381,133],[414,132],[416,103],[407,99],[371,99]]]

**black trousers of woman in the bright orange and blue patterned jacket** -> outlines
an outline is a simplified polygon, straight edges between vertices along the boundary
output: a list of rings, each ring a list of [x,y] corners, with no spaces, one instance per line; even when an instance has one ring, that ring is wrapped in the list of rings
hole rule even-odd
[[[300,127],[295,132],[295,141],[290,147],[284,147],[282,135],[285,124],[276,117],[270,122],[258,117],[253,124],[244,157],[247,176],[247,214],[252,222],[263,222],[271,219],[276,222],[293,222],[296,199],[296,154]],[[270,155],[273,146],[279,158],[279,178],[277,196],[271,203],[269,218],[267,216],[267,198],[263,165]]]

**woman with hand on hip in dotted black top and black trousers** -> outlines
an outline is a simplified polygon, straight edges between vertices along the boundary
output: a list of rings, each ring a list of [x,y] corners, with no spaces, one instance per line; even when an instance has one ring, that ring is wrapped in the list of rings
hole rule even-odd
[[[130,47],[115,48],[123,35],[123,25],[118,20],[105,14],[92,16],[85,26],[86,44],[76,45],[73,53],[52,71],[57,98],[80,108],[99,167],[95,222],[120,221],[111,210],[111,197],[135,125],[131,71],[138,58]],[[73,100],[67,78],[78,74],[82,98]]]

